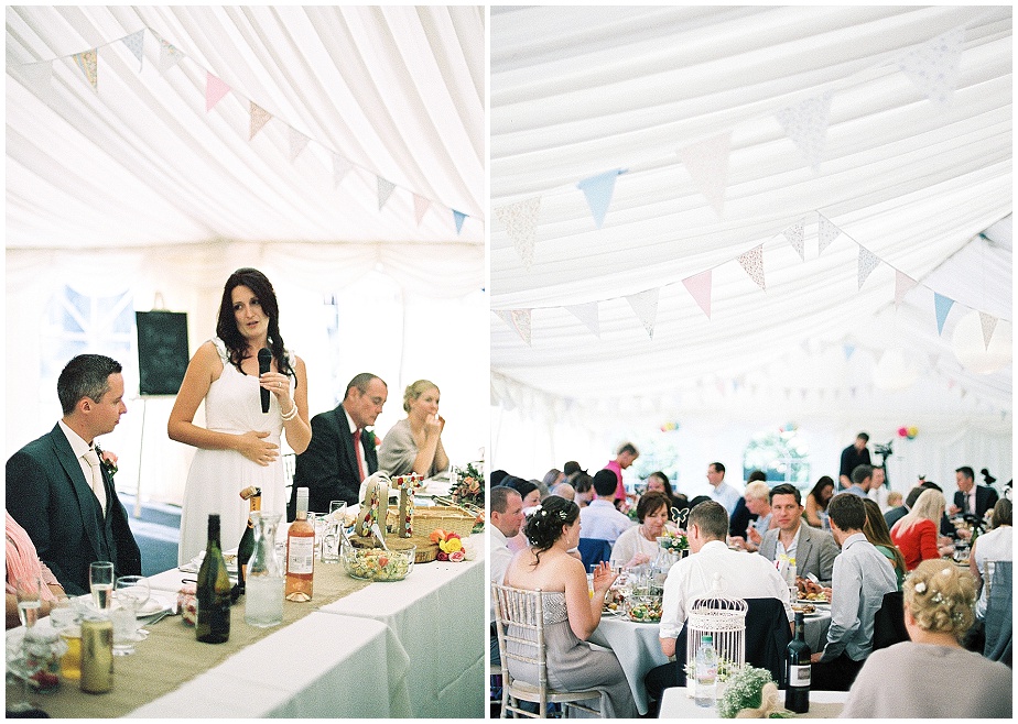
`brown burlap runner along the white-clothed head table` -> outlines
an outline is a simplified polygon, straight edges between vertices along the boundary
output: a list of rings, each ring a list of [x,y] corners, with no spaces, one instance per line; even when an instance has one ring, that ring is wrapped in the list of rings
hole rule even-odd
[[[145,626],[149,637],[136,646],[133,655],[113,657],[112,691],[87,694],[77,681],[62,678],[59,690],[34,694],[33,700],[52,717],[123,716],[221,663],[245,646],[370,584],[347,575],[342,563],[317,564],[314,599],[307,603],[284,601],[281,626],[257,628],[245,623],[243,597],[230,611],[230,638],[224,644],[201,644],[193,626],[185,625],[181,616],[167,616]]]

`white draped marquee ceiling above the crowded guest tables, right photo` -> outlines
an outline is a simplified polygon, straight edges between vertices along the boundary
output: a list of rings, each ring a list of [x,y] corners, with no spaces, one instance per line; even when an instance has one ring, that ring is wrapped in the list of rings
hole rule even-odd
[[[491,227],[492,404],[557,423],[700,410],[1009,434],[1011,365],[975,374],[951,342],[976,310],[1010,332],[1009,7],[492,8],[490,22],[492,217],[540,199],[529,268],[526,242]],[[899,61],[952,31],[940,105]],[[776,116],[825,92],[814,169]],[[726,132],[719,216],[678,152]],[[576,184],[616,168],[598,229]],[[841,230],[822,253],[817,212]],[[783,234],[800,220],[804,260]],[[760,244],[766,290],[737,261]],[[860,250],[879,262],[862,288]],[[682,284],[707,270],[710,318]],[[896,271],[918,283],[900,304]],[[648,300],[627,297],[643,293],[638,316]],[[941,333],[934,293],[955,303]],[[918,371],[908,388],[874,384],[887,350]]]

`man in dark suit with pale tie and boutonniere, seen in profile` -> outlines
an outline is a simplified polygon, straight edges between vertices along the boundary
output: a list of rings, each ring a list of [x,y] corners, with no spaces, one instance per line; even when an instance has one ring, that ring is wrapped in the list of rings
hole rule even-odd
[[[112,561],[117,575],[141,573],[141,552],[100,462],[95,438],[127,413],[115,360],[80,354],[56,383],[64,417],[7,461],[7,509],[71,595],[88,593],[88,566]]]

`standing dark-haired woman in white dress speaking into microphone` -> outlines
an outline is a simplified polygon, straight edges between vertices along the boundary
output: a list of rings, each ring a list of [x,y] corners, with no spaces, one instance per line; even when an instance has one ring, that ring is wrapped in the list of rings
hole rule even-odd
[[[216,334],[191,359],[166,426],[171,439],[197,448],[184,489],[180,563],[205,550],[210,513],[220,516],[223,549],[240,542],[248,519],[240,491],[249,485],[261,489],[263,511],[285,515],[282,431],[297,453],[311,441],[307,373],[283,347],[275,292],[261,272],[239,268],[226,281]],[[259,375],[263,348],[272,362]],[[272,393],[268,413],[261,390]],[[206,427],[194,424],[202,401]]]

